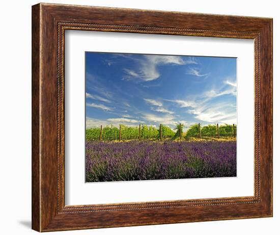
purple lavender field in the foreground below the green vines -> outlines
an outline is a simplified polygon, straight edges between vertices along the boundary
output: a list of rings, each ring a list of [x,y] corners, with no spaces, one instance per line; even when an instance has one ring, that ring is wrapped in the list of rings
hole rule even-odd
[[[236,176],[236,141],[86,143],[86,181]]]

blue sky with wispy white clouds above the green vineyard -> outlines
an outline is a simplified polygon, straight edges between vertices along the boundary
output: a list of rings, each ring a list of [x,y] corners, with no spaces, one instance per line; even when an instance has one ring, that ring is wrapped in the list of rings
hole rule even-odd
[[[86,52],[86,125],[236,124],[236,58]]]

